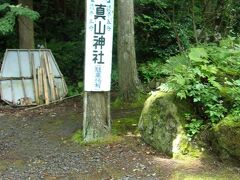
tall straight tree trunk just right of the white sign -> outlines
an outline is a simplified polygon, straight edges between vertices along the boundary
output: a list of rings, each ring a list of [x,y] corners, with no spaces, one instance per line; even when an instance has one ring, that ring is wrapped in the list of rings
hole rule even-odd
[[[136,98],[139,79],[134,42],[133,0],[118,0],[118,69],[119,88],[123,100]]]

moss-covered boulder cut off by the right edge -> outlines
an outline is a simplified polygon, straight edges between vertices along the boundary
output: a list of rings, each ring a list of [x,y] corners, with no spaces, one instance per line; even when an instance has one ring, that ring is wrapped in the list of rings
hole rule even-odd
[[[213,148],[222,159],[240,160],[240,118],[228,115],[213,128]]]

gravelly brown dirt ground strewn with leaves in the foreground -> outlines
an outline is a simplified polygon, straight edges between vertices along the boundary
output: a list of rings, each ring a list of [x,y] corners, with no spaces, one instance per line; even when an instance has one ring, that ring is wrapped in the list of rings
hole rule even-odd
[[[139,109],[112,111],[113,121]],[[217,157],[173,160],[123,135],[109,144],[78,145],[81,98],[34,110],[0,105],[0,179],[240,179],[238,164]]]

